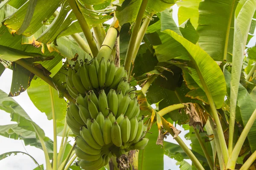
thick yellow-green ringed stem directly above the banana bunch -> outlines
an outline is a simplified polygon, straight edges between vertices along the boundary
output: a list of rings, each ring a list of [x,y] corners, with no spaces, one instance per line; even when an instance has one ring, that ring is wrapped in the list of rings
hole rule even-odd
[[[107,36],[104,42],[102,43],[102,46],[100,47],[99,53],[97,55],[98,60],[101,60],[102,57],[104,57],[105,60],[108,60],[112,52],[112,49],[115,45],[116,37],[117,37],[116,28],[113,28],[113,27],[109,28]]]

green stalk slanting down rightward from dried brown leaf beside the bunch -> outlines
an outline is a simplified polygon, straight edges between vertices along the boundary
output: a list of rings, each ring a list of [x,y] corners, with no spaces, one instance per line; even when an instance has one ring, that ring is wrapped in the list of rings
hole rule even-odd
[[[175,133],[173,132],[173,130],[171,129],[171,127],[169,127],[168,122],[166,121],[166,119],[164,119],[161,116],[162,122],[163,122],[163,127],[172,135],[175,136]],[[174,138],[178,144],[180,145],[180,147],[184,150],[184,152],[187,154],[187,156],[189,156],[189,159],[191,159],[192,163],[195,165],[195,167],[198,170],[204,170],[204,167],[200,164],[200,162],[198,161],[198,159],[195,157],[195,155],[192,153],[192,151],[186,146],[186,144],[183,142],[182,139],[180,139],[179,136]]]

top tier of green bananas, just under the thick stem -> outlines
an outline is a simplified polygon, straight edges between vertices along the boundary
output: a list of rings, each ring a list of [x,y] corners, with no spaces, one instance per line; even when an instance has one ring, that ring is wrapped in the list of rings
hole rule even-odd
[[[76,99],[78,94],[85,96],[91,90],[98,92],[99,89],[116,88],[122,79],[127,79],[124,66],[116,68],[113,61],[106,62],[104,57],[100,62],[96,58],[91,61],[85,59],[84,62],[76,61],[75,65],[67,68],[67,91]]]

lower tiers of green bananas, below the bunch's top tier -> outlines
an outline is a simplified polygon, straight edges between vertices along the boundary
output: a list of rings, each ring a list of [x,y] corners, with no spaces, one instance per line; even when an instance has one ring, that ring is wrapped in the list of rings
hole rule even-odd
[[[67,125],[76,137],[76,155],[79,165],[86,170],[98,170],[118,152],[142,150],[148,143],[144,138],[146,126],[140,115],[140,104],[135,88],[123,79],[116,90],[96,95],[89,91],[86,96],[77,94],[76,104],[67,108]]]

